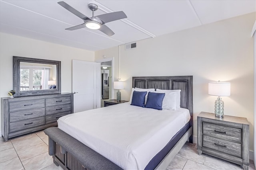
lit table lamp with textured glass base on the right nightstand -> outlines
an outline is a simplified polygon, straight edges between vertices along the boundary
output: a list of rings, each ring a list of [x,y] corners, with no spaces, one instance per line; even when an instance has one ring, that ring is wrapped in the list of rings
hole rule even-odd
[[[221,100],[221,96],[230,96],[230,82],[209,82],[208,94],[212,96],[218,96],[215,100],[215,116],[224,116],[224,102]]]

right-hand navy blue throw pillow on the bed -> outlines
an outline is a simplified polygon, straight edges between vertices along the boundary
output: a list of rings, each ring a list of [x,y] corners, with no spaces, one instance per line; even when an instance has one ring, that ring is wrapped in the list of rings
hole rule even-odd
[[[162,110],[164,96],[165,96],[165,93],[148,92],[148,100],[145,107]]]

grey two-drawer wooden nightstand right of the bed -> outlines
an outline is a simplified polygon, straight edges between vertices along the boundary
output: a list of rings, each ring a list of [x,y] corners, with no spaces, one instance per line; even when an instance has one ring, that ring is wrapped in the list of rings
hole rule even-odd
[[[244,117],[201,112],[197,116],[198,154],[209,154],[249,168],[249,123]]]

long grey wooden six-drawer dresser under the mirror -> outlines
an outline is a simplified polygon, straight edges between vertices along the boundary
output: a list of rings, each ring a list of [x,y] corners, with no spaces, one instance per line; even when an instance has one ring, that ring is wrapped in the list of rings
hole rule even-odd
[[[73,94],[49,94],[1,98],[4,141],[56,126],[58,118],[73,113]]]

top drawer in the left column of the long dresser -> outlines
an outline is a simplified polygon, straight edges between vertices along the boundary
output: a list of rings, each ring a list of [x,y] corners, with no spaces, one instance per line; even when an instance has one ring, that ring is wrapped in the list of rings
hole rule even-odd
[[[20,102],[10,102],[10,112],[20,111],[26,109],[36,109],[45,107],[45,100],[24,100]]]

